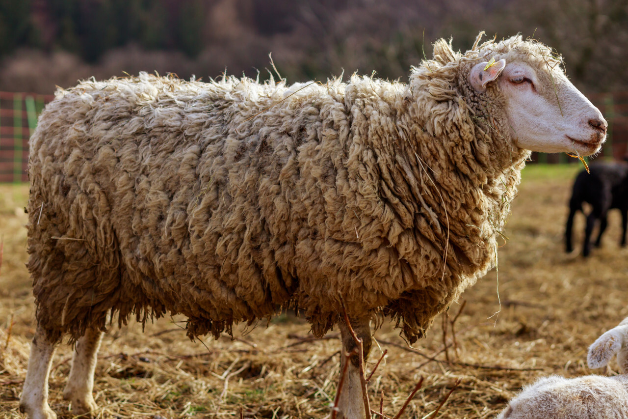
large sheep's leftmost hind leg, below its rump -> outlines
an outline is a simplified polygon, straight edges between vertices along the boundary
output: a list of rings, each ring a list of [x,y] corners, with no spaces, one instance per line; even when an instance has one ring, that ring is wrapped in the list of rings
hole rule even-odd
[[[29,419],[57,418],[48,406],[48,376],[56,345],[57,342],[51,340],[48,333],[38,326],[31,344],[28,370],[19,399],[19,411],[26,413]]]

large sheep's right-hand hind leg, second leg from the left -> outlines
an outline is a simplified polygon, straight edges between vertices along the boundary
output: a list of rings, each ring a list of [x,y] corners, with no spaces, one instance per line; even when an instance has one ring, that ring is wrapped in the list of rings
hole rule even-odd
[[[94,401],[94,371],[100,347],[102,332],[95,328],[87,328],[85,335],[80,337],[74,347],[72,368],[67,384],[63,389],[63,398],[72,404],[74,415],[89,415],[97,410]]]

